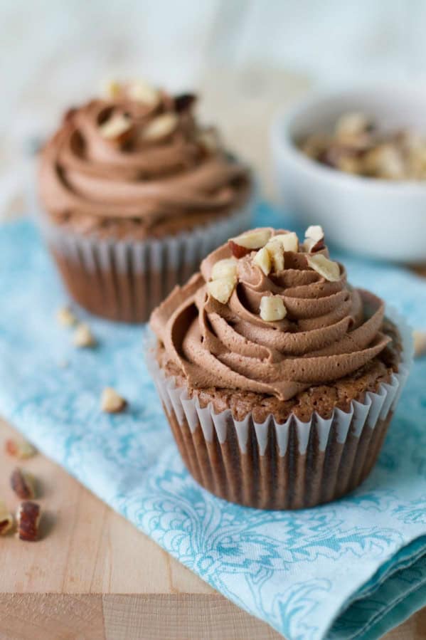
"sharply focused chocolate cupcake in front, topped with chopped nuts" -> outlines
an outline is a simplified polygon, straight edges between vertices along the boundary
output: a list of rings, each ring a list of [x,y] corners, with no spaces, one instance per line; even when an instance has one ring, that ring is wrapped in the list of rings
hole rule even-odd
[[[352,288],[319,226],[220,246],[151,315],[156,387],[188,471],[231,502],[306,508],[373,467],[408,374],[409,332]]]

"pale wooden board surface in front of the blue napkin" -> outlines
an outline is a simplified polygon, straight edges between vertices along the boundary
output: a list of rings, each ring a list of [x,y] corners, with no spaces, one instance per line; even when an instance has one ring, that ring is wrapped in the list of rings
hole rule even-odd
[[[17,461],[0,420],[0,498]],[[39,542],[0,538],[0,640],[278,640],[41,454],[21,466],[40,480],[48,513]],[[388,634],[425,640],[426,609]]]

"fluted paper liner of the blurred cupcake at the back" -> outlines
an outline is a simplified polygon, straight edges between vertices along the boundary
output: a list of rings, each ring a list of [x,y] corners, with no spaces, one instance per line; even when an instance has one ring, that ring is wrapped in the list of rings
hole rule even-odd
[[[151,311],[198,271],[208,253],[250,227],[255,194],[245,206],[176,236],[141,241],[70,233],[38,212],[66,287],[82,307],[111,320],[145,322]]]

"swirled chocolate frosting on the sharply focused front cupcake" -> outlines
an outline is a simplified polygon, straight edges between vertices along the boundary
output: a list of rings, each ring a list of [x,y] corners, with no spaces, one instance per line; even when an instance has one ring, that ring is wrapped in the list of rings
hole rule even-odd
[[[287,233],[270,230],[272,235]],[[316,251],[329,256],[326,247]],[[151,327],[168,361],[188,387],[238,389],[287,400],[313,385],[353,374],[388,344],[382,331],[383,301],[340,277],[326,280],[308,265],[307,249],[284,252],[284,269],[267,276],[255,252],[237,263],[237,283],[228,303],[209,295],[213,265],[230,257],[221,246],[176,288],[151,316]],[[282,298],[287,315],[262,320],[260,300]]]

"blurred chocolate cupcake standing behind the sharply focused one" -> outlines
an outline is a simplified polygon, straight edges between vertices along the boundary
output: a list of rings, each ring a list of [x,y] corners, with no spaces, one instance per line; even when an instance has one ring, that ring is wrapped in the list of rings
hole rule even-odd
[[[70,109],[41,152],[41,226],[70,295],[143,322],[201,258],[248,224],[245,164],[194,116],[196,96],[110,85]]]

